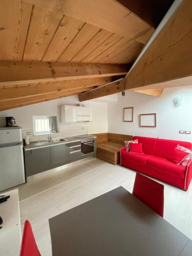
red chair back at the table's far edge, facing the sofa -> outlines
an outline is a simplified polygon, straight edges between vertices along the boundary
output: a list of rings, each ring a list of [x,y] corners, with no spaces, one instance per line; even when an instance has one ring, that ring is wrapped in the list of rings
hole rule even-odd
[[[164,186],[162,184],[137,173],[133,195],[163,217]]]

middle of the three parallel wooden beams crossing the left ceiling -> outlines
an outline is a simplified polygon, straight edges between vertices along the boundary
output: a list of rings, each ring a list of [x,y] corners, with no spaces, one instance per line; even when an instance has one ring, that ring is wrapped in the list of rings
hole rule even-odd
[[[56,83],[32,83],[28,84],[27,86],[19,86],[14,88],[0,88],[0,101],[28,98],[32,95],[45,95],[49,93],[63,92],[75,89],[82,89],[81,91],[86,91],[90,86],[98,86],[111,81],[111,77],[101,77],[62,81]]]

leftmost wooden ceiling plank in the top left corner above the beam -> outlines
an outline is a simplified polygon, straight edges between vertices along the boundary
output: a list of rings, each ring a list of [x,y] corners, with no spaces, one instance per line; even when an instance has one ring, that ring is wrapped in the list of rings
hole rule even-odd
[[[22,60],[32,5],[0,0],[0,60]]]

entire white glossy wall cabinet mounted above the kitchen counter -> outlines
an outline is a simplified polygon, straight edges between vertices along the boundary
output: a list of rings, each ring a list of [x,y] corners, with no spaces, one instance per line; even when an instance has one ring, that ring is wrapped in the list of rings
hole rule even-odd
[[[92,121],[92,111],[87,106],[61,106],[61,122],[76,123]]]

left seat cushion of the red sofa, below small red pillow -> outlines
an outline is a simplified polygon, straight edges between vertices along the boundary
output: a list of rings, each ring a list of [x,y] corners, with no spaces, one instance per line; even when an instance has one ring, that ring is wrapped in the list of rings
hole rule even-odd
[[[126,161],[132,161],[143,165],[146,165],[146,160],[151,157],[153,156],[147,154],[134,154],[126,151],[121,152],[121,158],[126,159]]]

